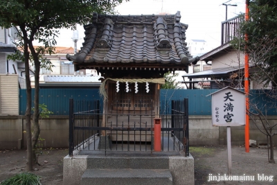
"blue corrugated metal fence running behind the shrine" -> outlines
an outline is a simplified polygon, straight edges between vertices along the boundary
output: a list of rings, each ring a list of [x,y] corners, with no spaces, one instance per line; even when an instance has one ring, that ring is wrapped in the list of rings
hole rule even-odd
[[[218,89],[161,89],[160,100],[163,102],[163,108],[166,112],[161,114],[170,114],[171,100],[183,100],[188,98],[189,115],[211,115],[211,96]],[[33,89],[32,96],[35,91]],[[251,90],[249,100],[260,107],[267,109],[267,115],[277,115],[277,101],[271,100],[267,96],[269,91]],[[47,105],[53,115],[69,115],[69,98],[74,100],[100,100],[102,107],[102,98],[99,89],[40,89],[39,104]],[[24,115],[26,111],[26,89],[19,90],[19,114]],[[274,109],[275,107],[275,109]],[[102,111],[102,109],[100,109]]]

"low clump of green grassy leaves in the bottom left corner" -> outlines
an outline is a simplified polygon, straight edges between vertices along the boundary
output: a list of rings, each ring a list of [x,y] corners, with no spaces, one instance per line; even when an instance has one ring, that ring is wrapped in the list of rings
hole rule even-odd
[[[40,177],[33,173],[19,173],[1,182],[1,185],[40,185]]]

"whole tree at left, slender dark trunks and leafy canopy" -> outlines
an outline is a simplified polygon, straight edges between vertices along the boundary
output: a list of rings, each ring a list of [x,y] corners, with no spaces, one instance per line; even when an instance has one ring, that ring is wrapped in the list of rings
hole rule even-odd
[[[87,24],[93,12],[111,13],[114,7],[122,0],[0,0],[0,26],[10,28],[15,26],[19,30],[17,35],[20,40],[17,46],[23,51],[10,58],[23,60],[26,73],[26,141],[27,141],[27,170],[33,170],[35,148],[39,138],[39,71],[41,67],[51,70],[51,62],[42,59],[45,53],[55,52],[55,38],[60,28],[73,29],[75,24]],[[43,46],[33,46],[33,40],[37,39]],[[33,114],[33,136],[31,135],[31,86],[30,66],[32,62],[35,67],[35,107]],[[35,159],[35,160],[33,160]]]

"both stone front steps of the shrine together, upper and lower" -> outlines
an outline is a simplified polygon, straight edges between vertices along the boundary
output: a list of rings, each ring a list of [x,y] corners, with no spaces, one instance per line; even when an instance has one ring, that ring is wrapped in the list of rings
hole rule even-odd
[[[172,185],[169,157],[89,156],[82,185]]]

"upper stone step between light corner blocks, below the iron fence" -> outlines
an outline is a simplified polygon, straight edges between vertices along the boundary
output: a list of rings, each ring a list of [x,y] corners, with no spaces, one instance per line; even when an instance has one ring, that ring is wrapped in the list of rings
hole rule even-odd
[[[169,157],[89,156],[87,168],[169,169]]]

